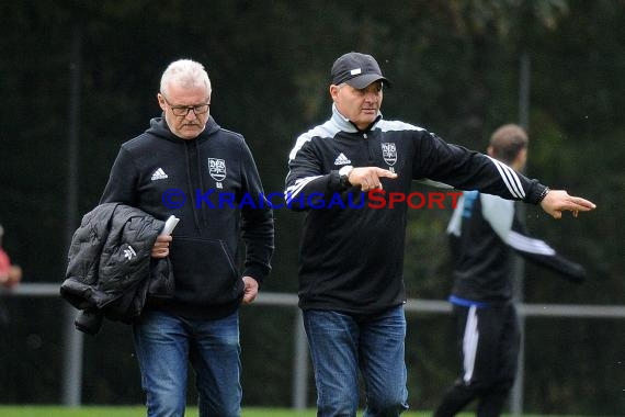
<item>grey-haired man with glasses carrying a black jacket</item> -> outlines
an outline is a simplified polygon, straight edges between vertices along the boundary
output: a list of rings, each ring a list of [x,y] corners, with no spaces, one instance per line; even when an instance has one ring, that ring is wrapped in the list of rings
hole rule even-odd
[[[264,199],[243,137],[211,116],[211,92],[201,64],[170,64],[157,94],[163,116],[122,145],[101,199],[158,218],[180,218],[173,235],[160,236],[152,248],[152,257],[170,257],[175,293],[169,300],[148,297],[133,326],[148,416],[184,415],[188,361],[195,371],[200,415],[240,415],[238,311],[254,301],[270,272],[270,204],[209,204],[219,192]],[[240,236],[242,273],[235,262]]]

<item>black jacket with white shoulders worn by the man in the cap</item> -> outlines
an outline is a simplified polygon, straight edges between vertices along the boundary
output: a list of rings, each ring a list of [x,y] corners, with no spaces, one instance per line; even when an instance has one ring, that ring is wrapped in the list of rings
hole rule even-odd
[[[376,166],[398,178],[383,178],[384,191],[410,192],[411,181],[430,179],[462,190],[480,190],[509,200],[537,203],[544,185],[482,154],[450,145],[404,122],[378,116],[359,131],[334,106],[332,117],[300,135],[288,158],[285,198],[306,210],[299,267],[299,306],[375,314],[406,301],[402,279],[407,205],[395,208],[314,208],[307,196],[331,199],[355,188],[340,181],[342,166]],[[352,204],[355,205],[355,204]]]

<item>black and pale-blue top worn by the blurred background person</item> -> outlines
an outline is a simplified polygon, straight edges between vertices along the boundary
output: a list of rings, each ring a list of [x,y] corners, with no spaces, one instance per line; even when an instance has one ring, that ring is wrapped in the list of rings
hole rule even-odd
[[[451,301],[486,306],[512,302],[514,252],[562,278],[581,282],[586,270],[532,237],[514,203],[477,191],[465,192],[447,227],[455,262]]]

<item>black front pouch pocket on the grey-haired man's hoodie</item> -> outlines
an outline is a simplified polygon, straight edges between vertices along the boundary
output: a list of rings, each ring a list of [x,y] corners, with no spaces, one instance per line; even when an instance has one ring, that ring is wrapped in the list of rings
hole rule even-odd
[[[175,301],[220,305],[241,297],[243,282],[223,240],[175,236],[170,258]]]

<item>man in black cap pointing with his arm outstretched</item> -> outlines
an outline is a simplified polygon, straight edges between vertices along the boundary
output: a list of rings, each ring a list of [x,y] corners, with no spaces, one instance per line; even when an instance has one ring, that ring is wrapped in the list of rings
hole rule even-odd
[[[285,198],[306,211],[299,307],[315,367],[318,416],[355,416],[359,370],[365,416],[408,408],[402,279],[407,205],[376,210],[376,195],[408,195],[412,180],[541,204],[556,218],[591,202],[549,190],[485,155],[379,112],[389,82],[371,55],[349,53],[331,70],[332,116],[289,154]],[[379,205],[377,205],[379,207]]]

